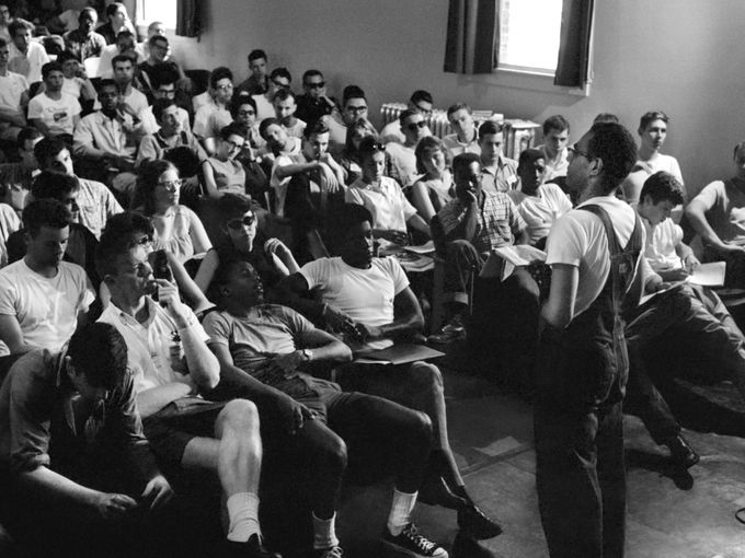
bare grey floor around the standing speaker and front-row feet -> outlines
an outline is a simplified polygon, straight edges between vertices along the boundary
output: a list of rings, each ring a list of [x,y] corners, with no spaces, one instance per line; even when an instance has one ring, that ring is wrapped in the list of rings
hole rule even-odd
[[[467,486],[504,527],[504,534],[483,545],[498,558],[547,557],[529,405],[480,377],[446,372],[445,379],[450,439]],[[665,450],[651,441],[641,421],[624,418],[627,557],[743,558],[745,525],[734,514],[745,507],[745,440],[685,433],[701,462],[689,474],[674,474]],[[376,542],[389,501],[390,487],[346,490],[339,514],[345,557],[385,556]],[[457,533],[455,513],[422,504],[416,514],[422,530],[449,548]]]

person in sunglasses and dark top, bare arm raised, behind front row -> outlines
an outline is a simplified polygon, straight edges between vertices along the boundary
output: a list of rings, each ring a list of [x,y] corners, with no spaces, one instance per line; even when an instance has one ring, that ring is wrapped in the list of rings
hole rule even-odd
[[[241,259],[249,261],[259,272],[267,290],[266,298],[273,300],[273,291],[279,280],[300,269],[289,248],[278,239],[266,239],[257,232],[259,222],[249,196],[226,194],[219,199],[218,209],[224,239],[202,260],[196,284],[206,293],[220,263]]]

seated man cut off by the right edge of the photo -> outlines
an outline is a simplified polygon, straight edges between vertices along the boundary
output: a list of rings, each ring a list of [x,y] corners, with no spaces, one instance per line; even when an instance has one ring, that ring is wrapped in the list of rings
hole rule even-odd
[[[735,174],[714,181],[686,207],[686,218],[701,235],[704,261],[726,261],[724,286],[745,288],[745,141],[734,149]]]

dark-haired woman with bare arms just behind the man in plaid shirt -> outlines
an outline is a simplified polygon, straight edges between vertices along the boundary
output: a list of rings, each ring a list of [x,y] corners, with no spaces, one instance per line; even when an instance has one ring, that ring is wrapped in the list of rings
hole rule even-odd
[[[428,223],[445,204],[455,198],[455,183],[450,174],[450,152],[434,136],[423,138],[414,151],[416,172],[423,173],[411,187],[411,202]]]

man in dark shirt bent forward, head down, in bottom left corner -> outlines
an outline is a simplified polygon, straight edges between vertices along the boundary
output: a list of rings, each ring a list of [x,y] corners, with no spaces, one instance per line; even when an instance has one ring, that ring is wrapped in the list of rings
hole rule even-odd
[[[142,523],[153,519],[142,512],[171,498],[134,382],[124,339],[107,324],[89,324],[65,347],[36,349],[11,367],[0,387],[0,509],[38,556],[136,555]]]

